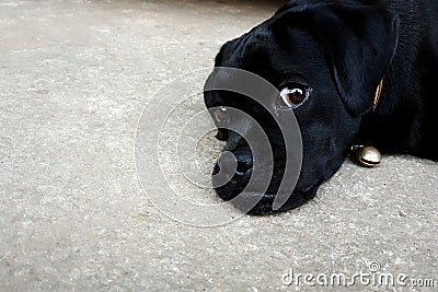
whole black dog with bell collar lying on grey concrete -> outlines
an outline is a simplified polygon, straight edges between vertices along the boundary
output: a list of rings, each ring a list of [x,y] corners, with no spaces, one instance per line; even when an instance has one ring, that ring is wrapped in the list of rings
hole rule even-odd
[[[436,0],[290,1],[272,19],[224,44],[216,67],[258,74],[283,93],[269,102],[293,110],[302,135],[302,167],[280,211],[312,199],[353,144],[438,160]],[[243,95],[206,92],[205,103],[209,108],[222,106],[222,114],[227,107],[244,110],[265,129],[274,152],[274,175],[251,212],[273,212],[286,152],[278,126]],[[218,138],[227,140],[224,150],[238,160],[232,179],[216,188],[229,200],[249,183],[252,154],[235,132],[219,129]],[[217,164],[214,173],[218,172]]]

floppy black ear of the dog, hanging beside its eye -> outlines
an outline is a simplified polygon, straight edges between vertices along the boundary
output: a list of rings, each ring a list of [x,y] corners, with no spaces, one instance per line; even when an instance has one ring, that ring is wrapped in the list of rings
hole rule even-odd
[[[298,16],[300,22],[310,24],[322,39],[349,113],[369,112],[397,46],[399,17],[382,8],[351,4],[302,5],[279,16],[284,19],[286,14],[292,22]]]

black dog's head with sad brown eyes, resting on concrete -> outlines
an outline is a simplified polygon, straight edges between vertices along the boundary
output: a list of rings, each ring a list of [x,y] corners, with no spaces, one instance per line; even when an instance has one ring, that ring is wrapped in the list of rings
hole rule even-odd
[[[376,89],[396,48],[397,31],[397,16],[384,9],[291,1],[272,19],[220,49],[216,67],[243,69],[267,80],[280,94],[267,96],[265,102],[287,108],[298,121],[303,151],[301,171],[295,190],[279,210],[312,199],[319,186],[341,167],[361,117],[372,108]],[[216,121],[227,115],[227,108],[238,108],[266,132],[274,155],[273,177],[251,212],[272,212],[281,179],[288,179],[284,177],[287,149],[278,125],[260,104],[244,95],[206,92],[205,103],[209,108],[220,108],[211,113]],[[224,150],[232,152],[238,162],[230,182],[216,188],[222,199],[230,200],[247,185],[253,160],[241,135],[218,127],[217,137],[227,141]],[[214,174],[220,167],[227,167],[227,161],[219,159]]]

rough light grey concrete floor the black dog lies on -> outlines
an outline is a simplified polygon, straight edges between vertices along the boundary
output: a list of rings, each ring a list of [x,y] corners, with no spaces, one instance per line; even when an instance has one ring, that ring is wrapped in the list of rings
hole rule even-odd
[[[285,276],[377,269],[394,285],[350,290],[427,291],[403,287],[405,275],[436,291],[437,163],[346,162],[315,201],[216,227],[170,219],[141,187],[157,176],[136,171],[143,107],[165,105],[170,80],[210,68],[224,40],[279,3],[0,1],[0,291],[344,291]],[[198,149],[219,150],[211,136]]]

